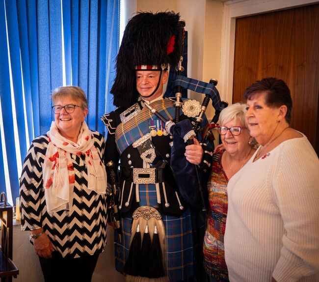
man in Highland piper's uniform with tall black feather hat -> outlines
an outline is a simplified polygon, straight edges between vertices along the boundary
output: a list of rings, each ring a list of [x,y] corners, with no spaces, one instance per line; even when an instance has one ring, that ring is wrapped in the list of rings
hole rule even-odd
[[[115,265],[130,281],[137,281],[137,277],[190,281],[196,275],[195,208],[181,196],[183,187],[170,166],[173,137],[165,123],[145,106],[175,120],[174,102],[163,98],[163,85],[168,79],[167,65],[178,61],[175,51],[179,42],[175,38],[179,32],[179,15],[173,12],[138,13],[129,21],[111,90],[118,108],[102,117],[108,130],[105,161],[120,163],[117,200],[123,238],[120,241],[114,236]],[[180,117],[185,118],[183,114]],[[193,163],[206,159],[205,164],[210,164],[206,147],[203,150],[195,141],[191,148],[193,154],[188,158],[193,158]],[[156,240],[160,246],[152,253]]]

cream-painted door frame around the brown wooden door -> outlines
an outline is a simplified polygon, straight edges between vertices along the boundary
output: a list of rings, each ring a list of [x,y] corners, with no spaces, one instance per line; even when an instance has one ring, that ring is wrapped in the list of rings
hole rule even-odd
[[[222,93],[222,100],[229,103],[233,101],[236,18],[318,2],[318,0],[229,0],[224,2],[220,66],[220,93]]]

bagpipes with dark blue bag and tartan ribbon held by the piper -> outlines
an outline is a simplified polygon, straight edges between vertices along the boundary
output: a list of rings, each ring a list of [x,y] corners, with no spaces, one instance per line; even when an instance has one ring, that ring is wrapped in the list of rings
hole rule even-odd
[[[189,79],[187,77],[179,76],[178,80],[174,82],[174,85],[183,85],[187,89],[195,90],[200,93],[205,93],[203,104],[200,107],[199,103],[194,100],[186,103],[183,112],[188,117],[194,117],[195,122],[192,124],[189,119],[174,123],[172,120],[166,119],[148,103],[144,103],[151,113],[155,114],[165,124],[165,130],[173,136],[173,146],[171,149],[170,167],[175,175],[176,182],[179,186],[179,190],[184,199],[192,206],[198,206],[200,202],[203,211],[206,211],[205,199],[203,196],[202,180],[200,179],[197,166],[189,163],[184,155],[186,144],[193,144],[193,138],[196,137],[200,128],[200,123],[203,121],[203,115],[209,105],[210,99],[212,99],[213,107],[215,108],[215,115],[210,122],[207,129],[204,131],[204,135],[201,143],[205,142],[210,135],[212,135],[211,129],[216,127],[216,122],[219,118],[219,113],[222,109],[226,108],[228,103],[221,102],[218,90],[214,84],[207,84],[204,82]],[[193,85],[196,85],[193,87]],[[186,102],[187,102],[186,101]],[[188,104],[188,105],[187,105]],[[196,105],[198,105],[196,107]],[[185,104],[183,105],[183,107]],[[197,108],[197,115],[194,115],[194,111],[190,111],[189,108]]]

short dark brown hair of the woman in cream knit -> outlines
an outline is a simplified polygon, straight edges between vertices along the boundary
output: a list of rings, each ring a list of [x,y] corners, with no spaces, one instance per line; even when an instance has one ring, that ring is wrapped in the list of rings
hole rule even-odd
[[[266,105],[270,108],[287,106],[285,119],[288,123],[292,121],[292,97],[287,84],[277,78],[269,77],[258,80],[245,90],[243,97],[245,101],[251,100],[255,94],[266,92]]]

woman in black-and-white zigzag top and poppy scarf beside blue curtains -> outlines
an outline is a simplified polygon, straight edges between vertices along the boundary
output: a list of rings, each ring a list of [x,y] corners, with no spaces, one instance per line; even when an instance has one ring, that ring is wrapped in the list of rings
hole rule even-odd
[[[80,87],[56,88],[50,131],[31,143],[20,179],[21,227],[46,282],[91,281],[106,244],[105,141],[84,119]]]

